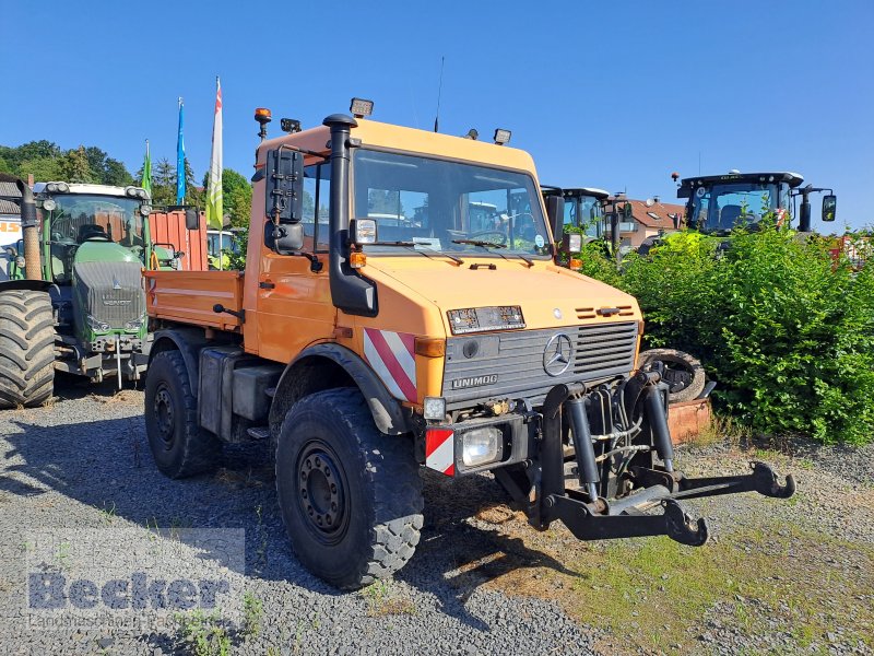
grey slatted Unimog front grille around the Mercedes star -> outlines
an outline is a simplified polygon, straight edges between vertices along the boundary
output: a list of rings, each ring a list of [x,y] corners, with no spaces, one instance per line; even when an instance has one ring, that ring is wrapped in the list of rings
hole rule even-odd
[[[450,409],[492,398],[525,398],[536,406],[559,383],[592,383],[628,374],[634,368],[637,331],[637,321],[623,321],[450,338],[442,395]],[[567,341],[556,337],[562,335]],[[551,340],[569,342],[572,351],[567,368],[557,375],[544,368]],[[562,363],[553,367],[555,373]]]

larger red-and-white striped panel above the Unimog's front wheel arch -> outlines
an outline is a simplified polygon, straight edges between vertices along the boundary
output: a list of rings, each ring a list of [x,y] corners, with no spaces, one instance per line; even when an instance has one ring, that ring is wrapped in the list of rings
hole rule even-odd
[[[364,356],[391,396],[416,402],[416,339],[409,332],[364,329]]]

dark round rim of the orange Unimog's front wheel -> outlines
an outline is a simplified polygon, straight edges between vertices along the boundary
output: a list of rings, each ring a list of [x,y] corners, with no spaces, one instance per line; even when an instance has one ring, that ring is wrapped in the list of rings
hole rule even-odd
[[[310,532],[324,544],[335,544],[349,525],[346,476],[334,450],[314,440],[297,458],[297,502]]]

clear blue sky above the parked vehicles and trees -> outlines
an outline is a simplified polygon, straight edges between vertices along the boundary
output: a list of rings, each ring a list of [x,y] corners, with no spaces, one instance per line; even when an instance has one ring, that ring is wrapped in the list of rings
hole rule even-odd
[[[135,172],[149,138],[174,162],[184,96],[201,178],[220,74],[225,166],[248,177],[255,107],[306,127],[359,95],[430,129],[445,56],[440,131],[511,129],[544,184],[669,200],[700,157],[702,174],[798,171],[835,188],[838,224],[874,223],[872,0],[3,4],[22,25],[0,39],[7,83],[21,75],[5,145],[98,145]]]

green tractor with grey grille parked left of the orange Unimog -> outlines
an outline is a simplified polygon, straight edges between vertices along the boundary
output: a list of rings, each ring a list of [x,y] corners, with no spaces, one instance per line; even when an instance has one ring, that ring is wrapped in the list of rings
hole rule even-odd
[[[152,243],[149,192],[3,179],[20,191],[22,238],[0,282],[0,408],[49,399],[56,370],[139,379],[151,344],[142,271],[182,255]]]

